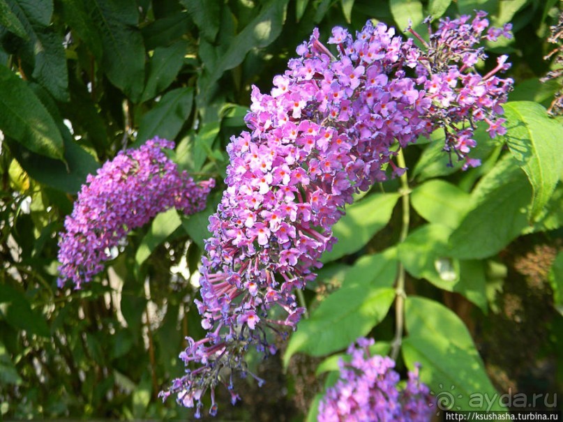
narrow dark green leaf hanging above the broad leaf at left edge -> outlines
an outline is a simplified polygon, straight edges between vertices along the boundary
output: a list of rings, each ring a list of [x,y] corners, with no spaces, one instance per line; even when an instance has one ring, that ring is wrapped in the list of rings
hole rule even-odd
[[[23,59],[33,66],[31,77],[45,86],[54,98],[68,100],[68,70],[62,36],[47,27],[53,13],[52,1],[7,0],[22,23],[29,41]]]

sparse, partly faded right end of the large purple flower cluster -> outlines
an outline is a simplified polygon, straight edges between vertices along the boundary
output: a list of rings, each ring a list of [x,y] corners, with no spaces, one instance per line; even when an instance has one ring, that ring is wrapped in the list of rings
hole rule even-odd
[[[513,80],[496,76],[500,70],[510,67],[506,63],[508,56],[497,58],[497,66],[486,75],[480,75],[473,66],[487,56],[482,40],[495,42],[503,36],[511,38],[511,24],[502,29],[489,27],[486,12],[478,11],[473,19],[463,15],[456,20],[440,20],[437,31],[433,32],[428,23],[430,42],[419,36],[412,29],[409,31],[420,40],[424,52],[416,65],[417,83],[423,85],[426,97],[432,100],[430,120],[433,128],[444,128],[446,145],[444,151],[456,153],[458,159],[465,160],[464,169],[476,167],[481,162],[467,158],[467,154],[476,145],[473,139],[477,121],[485,121],[490,137],[504,135],[502,126],[505,119],[502,104],[506,103]]]

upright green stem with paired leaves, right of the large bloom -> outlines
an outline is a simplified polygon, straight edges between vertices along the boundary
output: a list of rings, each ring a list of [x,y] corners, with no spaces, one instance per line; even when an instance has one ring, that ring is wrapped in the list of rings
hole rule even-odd
[[[403,149],[398,151],[397,164],[403,168],[407,167]],[[400,176],[399,193],[403,206],[403,220],[401,222],[399,243],[403,243],[409,234],[410,225],[410,188],[407,172]],[[395,293],[395,338],[393,338],[391,345],[391,359],[393,359],[393,361],[396,361],[398,357],[400,346],[403,342],[403,329],[405,325],[405,299],[407,295],[405,294],[405,267],[401,262],[398,263]]]

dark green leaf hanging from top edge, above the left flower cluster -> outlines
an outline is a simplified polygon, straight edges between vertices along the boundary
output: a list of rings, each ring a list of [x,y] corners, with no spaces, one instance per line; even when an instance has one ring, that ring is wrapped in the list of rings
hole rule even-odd
[[[144,44],[135,0],[82,0],[102,41],[103,72],[134,103],[144,88]]]

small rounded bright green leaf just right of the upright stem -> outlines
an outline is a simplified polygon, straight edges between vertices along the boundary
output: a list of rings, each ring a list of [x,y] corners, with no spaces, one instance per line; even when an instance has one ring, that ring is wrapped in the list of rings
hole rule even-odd
[[[458,227],[472,208],[471,197],[457,186],[443,180],[426,181],[412,190],[412,206],[430,223]]]

